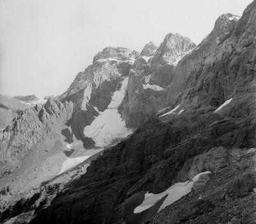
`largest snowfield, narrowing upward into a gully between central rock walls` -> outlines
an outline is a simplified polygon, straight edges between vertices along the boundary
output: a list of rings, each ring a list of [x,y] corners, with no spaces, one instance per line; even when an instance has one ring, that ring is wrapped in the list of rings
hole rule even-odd
[[[122,120],[118,113],[118,106],[125,96],[128,77],[125,77],[120,90],[113,94],[112,100],[103,112],[99,112],[92,124],[84,127],[84,136],[92,138],[97,147],[106,147],[117,138],[125,138],[132,133],[132,129],[128,129],[125,121]]]

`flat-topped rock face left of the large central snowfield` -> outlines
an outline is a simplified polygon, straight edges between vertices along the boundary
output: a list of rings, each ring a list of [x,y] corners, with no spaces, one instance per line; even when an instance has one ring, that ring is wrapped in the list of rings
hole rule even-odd
[[[68,90],[60,96],[61,102],[73,102],[74,114],[70,120],[72,132],[84,147],[94,142],[84,137],[84,127],[90,125],[98,111],[104,111],[111,102],[113,92],[129,74],[129,68],[138,53],[123,47],[106,47],[93,58],[93,64],[80,72]]]

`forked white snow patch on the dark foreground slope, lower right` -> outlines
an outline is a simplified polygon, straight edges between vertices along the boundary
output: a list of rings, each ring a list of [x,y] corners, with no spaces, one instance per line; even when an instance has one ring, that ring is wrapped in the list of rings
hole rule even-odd
[[[211,172],[207,171],[203,173]],[[199,173],[191,181],[187,180],[186,182],[179,182],[173,184],[172,186],[170,186],[170,188],[166,189],[162,193],[155,195],[153,193],[147,192],[145,194],[143,202],[134,209],[134,213],[140,213],[149,209],[154,204],[156,204],[157,201],[161,200],[161,198],[163,198],[165,195],[168,195],[167,198],[164,200],[163,204],[158,209],[158,212],[161,211],[166,206],[173,204],[173,202],[182,198],[182,196],[187,195],[191,191],[193,184],[199,179],[200,175],[202,175],[203,173]]]

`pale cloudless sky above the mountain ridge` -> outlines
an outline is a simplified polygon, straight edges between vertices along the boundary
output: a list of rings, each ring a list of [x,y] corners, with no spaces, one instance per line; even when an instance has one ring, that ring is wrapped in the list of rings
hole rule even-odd
[[[0,0],[0,93],[60,95],[107,46],[141,51],[168,33],[195,44],[252,0]]]

